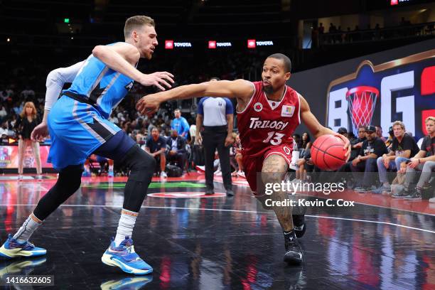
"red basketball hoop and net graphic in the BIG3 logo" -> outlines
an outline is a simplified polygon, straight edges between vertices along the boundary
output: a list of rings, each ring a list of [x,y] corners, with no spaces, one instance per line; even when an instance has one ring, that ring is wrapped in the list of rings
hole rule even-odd
[[[346,93],[355,135],[358,136],[358,127],[371,124],[378,96],[379,90],[376,87],[367,86],[354,87]]]

